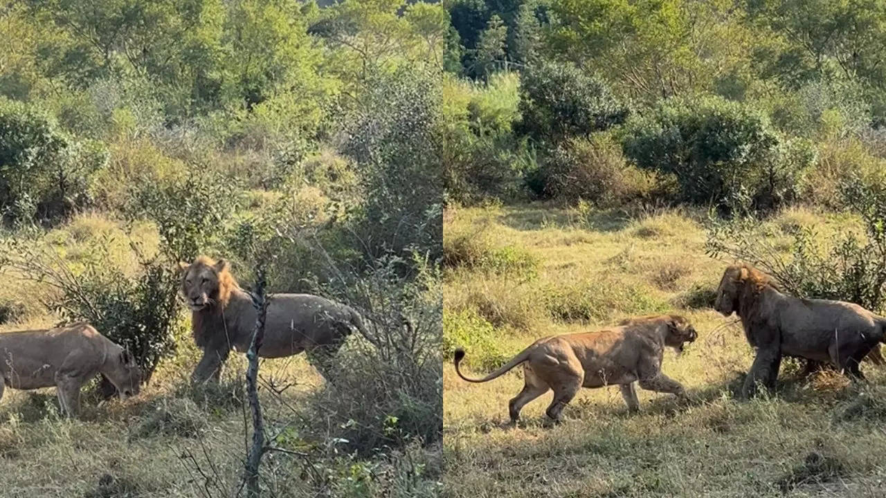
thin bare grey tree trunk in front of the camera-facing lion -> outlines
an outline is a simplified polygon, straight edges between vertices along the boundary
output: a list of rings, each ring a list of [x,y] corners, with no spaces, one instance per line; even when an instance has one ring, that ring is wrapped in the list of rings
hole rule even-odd
[[[258,498],[261,494],[259,486],[259,467],[261,456],[265,452],[265,425],[261,418],[261,405],[259,402],[259,349],[265,338],[265,315],[268,311],[268,298],[265,295],[265,273],[259,269],[258,279],[253,292],[253,307],[258,312],[255,319],[255,331],[253,340],[246,352],[246,360],[249,366],[246,369],[246,397],[249,399],[249,409],[253,415],[253,445],[249,448],[246,457],[246,496]]]

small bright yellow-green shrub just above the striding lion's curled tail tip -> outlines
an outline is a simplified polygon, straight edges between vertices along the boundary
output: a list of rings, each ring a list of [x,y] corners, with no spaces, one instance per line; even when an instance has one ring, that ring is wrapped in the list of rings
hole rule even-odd
[[[443,313],[444,357],[452,358],[460,347],[468,353],[470,365],[477,369],[496,368],[507,359],[493,324],[472,309]]]

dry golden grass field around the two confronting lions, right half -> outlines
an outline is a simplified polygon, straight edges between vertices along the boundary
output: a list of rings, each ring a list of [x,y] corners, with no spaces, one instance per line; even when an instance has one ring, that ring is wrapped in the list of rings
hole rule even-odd
[[[865,364],[870,383],[851,385],[783,364],[777,393],[736,401],[752,352],[734,316],[709,307],[728,261],[704,254],[702,220],[539,204],[447,212],[446,496],[882,496],[886,370]],[[798,227],[828,237],[857,221],[794,208],[769,222],[781,234],[773,245],[787,249]],[[658,312],[686,315],[699,332],[679,358],[664,354],[688,406],[638,389],[641,413],[629,416],[617,387],[584,389],[548,427],[548,393],[511,428],[522,370],[478,385],[451,364],[455,346],[476,374],[535,338]]]

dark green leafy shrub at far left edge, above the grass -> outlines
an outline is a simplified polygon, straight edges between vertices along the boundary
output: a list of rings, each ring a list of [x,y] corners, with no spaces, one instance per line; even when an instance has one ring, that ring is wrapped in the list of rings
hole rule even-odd
[[[77,142],[47,113],[0,98],[0,216],[53,220],[89,202],[89,177],[105,165],[102,146]]]

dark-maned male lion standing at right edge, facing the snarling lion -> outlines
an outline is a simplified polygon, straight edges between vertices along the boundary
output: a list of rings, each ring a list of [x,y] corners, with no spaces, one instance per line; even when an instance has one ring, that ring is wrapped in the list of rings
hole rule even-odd
[[[886,318],[857,304],[782,294],[769,276],[747,264],[726,268],[714,308],[738,315],[750,346],[757,348],[743,396],[754,393],[758,381],[774,387],[783,355],[830,362],[864,378],[859,362],[883,341],[886,326]],[[879,351],[871,359],[877,362]]]

